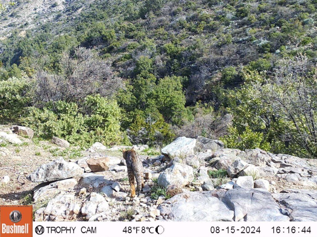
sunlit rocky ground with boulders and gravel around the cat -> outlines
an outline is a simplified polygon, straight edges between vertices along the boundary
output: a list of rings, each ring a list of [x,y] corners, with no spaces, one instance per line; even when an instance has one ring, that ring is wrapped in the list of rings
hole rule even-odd
[[[128,147],[32,137],[0,128],[0,205],[32,204],[35,221],[317,221],[316,160],[203,137],[135,146],[146,185],[131,198]]]

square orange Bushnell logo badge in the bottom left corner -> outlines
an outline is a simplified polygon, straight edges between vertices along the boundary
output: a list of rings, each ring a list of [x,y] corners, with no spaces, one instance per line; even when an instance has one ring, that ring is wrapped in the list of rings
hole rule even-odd
[[[0,206],[0,237],[32,237],[32,206]]]

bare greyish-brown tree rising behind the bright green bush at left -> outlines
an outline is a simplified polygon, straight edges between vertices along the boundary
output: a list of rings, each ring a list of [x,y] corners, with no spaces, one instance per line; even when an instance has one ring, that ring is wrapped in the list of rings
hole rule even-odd
[[[64,54],[60,74],[40,71],[36,74],[36,102],[74,102],[82,105],[88,95],[112,96],[121,87],[121,79],[107,62],[95,58],[91,50],[78,48],[74,55]]]

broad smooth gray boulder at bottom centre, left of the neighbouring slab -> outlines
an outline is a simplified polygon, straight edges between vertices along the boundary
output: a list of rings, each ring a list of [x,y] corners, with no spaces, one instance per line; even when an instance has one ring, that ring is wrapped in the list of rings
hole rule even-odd
[[[171,221],[232,221],[234,212],[212,194],[212,191],[177,194],[158,209]]]

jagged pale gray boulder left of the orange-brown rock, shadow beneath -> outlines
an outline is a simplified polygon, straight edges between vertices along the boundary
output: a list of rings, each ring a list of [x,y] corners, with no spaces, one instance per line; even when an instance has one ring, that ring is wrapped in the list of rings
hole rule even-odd
[[[81,175],[84,169],[73,162],[66,162],[63,158],[56,159],[48,164],[41,165],[35,172],[29,174],[27,179],[37,182],[50,182]]]

